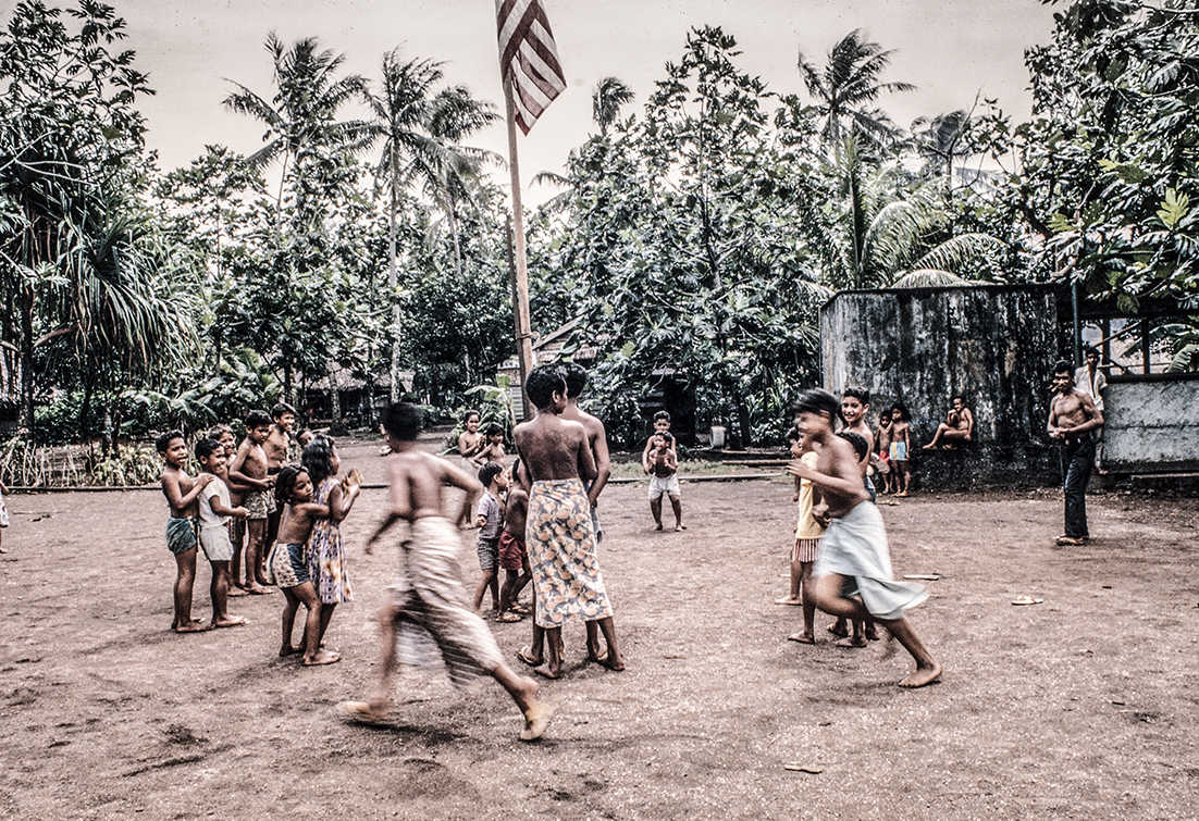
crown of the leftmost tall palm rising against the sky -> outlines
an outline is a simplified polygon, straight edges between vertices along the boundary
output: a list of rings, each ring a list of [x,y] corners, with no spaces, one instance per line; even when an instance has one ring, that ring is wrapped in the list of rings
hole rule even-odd
[[[344,54],[320,50],[315,37],[296,41],[290,48],[272,31],[266,37],[266,52],[275,65],[275,96],[264,97],[240,83],[233,83],[237,91],[224,98],[233,111],[254,117],[266,126],[266,141],[246,158],[252,169],[261,169],[276,158],[283,158],[277,207],[283,203],[283,183],[289,163],[299,177],[303,171],[296,168],[301,156],[318,146],[333,145],[343,149],[361,149],[366,143],[367,123],[359,120],[338,121],[339,109],[361,96],[366,80],[357,74],[336,77],[345,62]],[[231,82],[231,80],[230,80]],[[297,197],[305,187],[296,186]]]

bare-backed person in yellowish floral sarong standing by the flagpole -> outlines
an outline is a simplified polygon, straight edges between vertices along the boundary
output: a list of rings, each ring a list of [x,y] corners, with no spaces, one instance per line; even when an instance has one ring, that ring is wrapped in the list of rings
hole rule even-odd
[[[523,478],[531,483],[525,545],[537,598],[536,622],[546,630],[549,659],[524,652],[520,659],[535,665],[548,678],[561,675],[562,623],[570,616],[597,623],[607,653],[596,662],[609,670],[623,670],[616,646],[613,609],[596,556],[591,505],[584,482],[594,482],[597,471],[588,429],[564,419],[566,379],[553,366],[534,368],[525,380],[525,393],[537,409],[529,422],[512,431],[525,466]]]

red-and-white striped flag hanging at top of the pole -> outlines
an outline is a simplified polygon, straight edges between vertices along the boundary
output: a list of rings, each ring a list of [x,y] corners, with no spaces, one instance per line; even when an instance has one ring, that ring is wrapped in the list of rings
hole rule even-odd
[[[541,0],[495,0],[500,73],[512,84],[516,121],[525,134],[550,101],[566,90],[558,46]]]

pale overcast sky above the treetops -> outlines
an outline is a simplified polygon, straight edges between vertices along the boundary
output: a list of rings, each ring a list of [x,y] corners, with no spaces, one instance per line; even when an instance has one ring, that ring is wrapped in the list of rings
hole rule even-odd
[[[67,0],[54,0],[65,5]],[[128,23],[127,47],[157,95],[140,108],[147,143],[163,169],[187,164],[205,144],[242,153],[261,145],[263,128],[221,101],[236,80],[270,98],[270,31],[285,42],[315,36],[345,54],[345,71],[373,78],[382,54],[444,61],[446,79],[499,104],[502,91],[492,0],[107,0]],[[777,92],[803,92],[796,58],[821,65],[855,28],[894,49],[885,79],[915,83],[914,92],[881,101],[908,126],[921,115],[969,109],[975,96],[1029,110],[1024,49],[1046,42],[1052,8],[1038,0],[542,0],[558,41],[568,87],[519,141],[525,201],[553,195],[529,187],[534,174],[562,170],[592,128],[591,90],[615,76],[644,104],[662,66],[677,60],[689,26],[721,25],[743,50],[741,65]],[[16,4],[0,0],[5,17]],[[805,92],[806,96],[806,92]],[[500,109],[502,110],[502,109]],[[470,140],[507,153],[502,121]]]

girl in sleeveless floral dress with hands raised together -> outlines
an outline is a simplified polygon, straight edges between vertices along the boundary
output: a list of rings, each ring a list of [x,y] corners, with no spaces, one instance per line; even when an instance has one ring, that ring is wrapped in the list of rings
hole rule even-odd
[[[362,487],[351,481],[357,478],[357,471],[350,471],[350,479],[345,482],[337,478],[342,460],[337,455],[337,446],[329,436],[313,439],[305,447],[300,460],[317,487],[315,503],[329,507],[329,518],[315,520],[308,543],[308,575],[320,598],[320,632],[317,641],[323,645],[333,609],[342,602],[354,599],[345,567],[345,547],[342,544],[342,521],[350,514]]]

